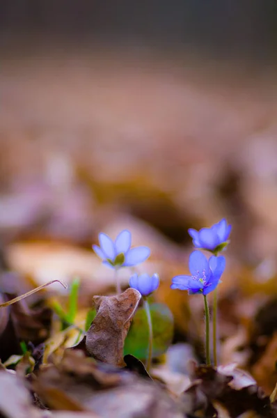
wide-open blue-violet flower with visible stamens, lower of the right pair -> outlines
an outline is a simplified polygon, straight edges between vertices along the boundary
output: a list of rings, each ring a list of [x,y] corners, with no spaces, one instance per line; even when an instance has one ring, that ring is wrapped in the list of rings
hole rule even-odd
[[[207,258],[200,251],[193,251],[189,256],[189,271],[191,276],[175,276],[172,279],[172,289],[195,293],[208,293],[214,291],[225,269],[225,257],[212,256]]]

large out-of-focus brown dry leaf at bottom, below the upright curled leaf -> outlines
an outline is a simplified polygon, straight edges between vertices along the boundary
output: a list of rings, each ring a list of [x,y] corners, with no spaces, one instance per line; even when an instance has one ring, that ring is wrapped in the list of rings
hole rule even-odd
[[[42,366],[31,384],[53,409],[72,410],[70,399],[74,410],[81,405],[102,418],[184,418],[180,406],[151,380],[95,362],[81,350],[67,350],[61,362]]]

